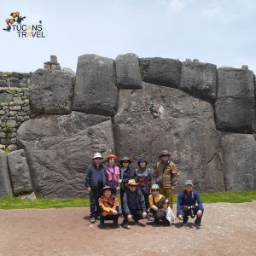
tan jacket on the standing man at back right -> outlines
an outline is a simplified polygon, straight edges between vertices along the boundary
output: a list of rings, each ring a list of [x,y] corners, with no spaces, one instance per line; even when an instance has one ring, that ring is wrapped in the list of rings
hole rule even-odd
[[[166,164],[160,161],[154,169],[155,183],[160,185],[160,188],[172,188],[177,184],[177,167],[169,160]]]

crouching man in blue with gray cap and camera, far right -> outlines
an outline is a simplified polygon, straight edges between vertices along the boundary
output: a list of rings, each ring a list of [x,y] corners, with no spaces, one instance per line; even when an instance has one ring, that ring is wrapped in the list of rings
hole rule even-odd
[[[197,203],[197,205],[196,205]],[[195,227],[201,228],[201,218],[204,212],[201,198],[195,190],[191,180],[185,182],[185,190],[177,196],[177,218],[183,221],[183,225],[188,224],[189,216],[195,218]]]

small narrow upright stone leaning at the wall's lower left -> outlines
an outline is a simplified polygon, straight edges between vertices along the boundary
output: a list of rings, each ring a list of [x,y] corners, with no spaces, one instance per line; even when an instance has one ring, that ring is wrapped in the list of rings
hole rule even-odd
[[[14,195],[32,192],[32,182],[26,163],[25,151],[20,149],[9,153],[7,160]]]

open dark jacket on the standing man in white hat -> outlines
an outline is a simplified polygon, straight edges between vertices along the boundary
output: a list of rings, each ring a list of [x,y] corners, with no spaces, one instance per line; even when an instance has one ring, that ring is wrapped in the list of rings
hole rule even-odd
[[[108,174],[106,168],[101,164],[99,167],[95,163],[92,163],[87,167],[86,178],[85,178],[85,188],[96,189],[98,186],[96,172],[97,170],[102,171],[102,183],[103,187],[108,186]]]

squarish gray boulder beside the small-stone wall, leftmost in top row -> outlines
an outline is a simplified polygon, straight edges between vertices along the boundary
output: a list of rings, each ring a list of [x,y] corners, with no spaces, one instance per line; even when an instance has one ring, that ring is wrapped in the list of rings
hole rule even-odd
[[[29,89],[33,113],[71,112],[73,77],[70,74],[61,71],[38,69],[32,74]]]

